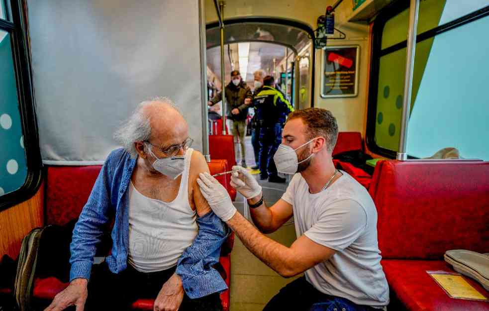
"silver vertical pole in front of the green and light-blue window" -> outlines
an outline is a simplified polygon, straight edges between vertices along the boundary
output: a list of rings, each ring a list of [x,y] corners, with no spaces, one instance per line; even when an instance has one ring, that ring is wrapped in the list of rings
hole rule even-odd
[[[416,52],[416,27],[418,25],[419,0],[411,0],[409,5],[409,29],[407,33],[406,72],[404,76],[404,97],[402,102],[402,119],[400,128],[399,151],[396,159],[407,159],[407,125],[411,108],[412,75],[414,72],[414,54]]]

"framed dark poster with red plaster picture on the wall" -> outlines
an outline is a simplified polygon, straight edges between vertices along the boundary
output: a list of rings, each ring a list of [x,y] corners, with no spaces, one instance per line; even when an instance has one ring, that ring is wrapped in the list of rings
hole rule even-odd
[[[321,97],[355,97],[358,94],[358,45],[323,49]]]

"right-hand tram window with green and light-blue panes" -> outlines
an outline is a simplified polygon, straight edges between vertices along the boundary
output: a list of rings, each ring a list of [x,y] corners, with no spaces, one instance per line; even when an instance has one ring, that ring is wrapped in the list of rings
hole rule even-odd
[[[489,43],[481,40],[489,27],[489,17],[484,16],[489,7],[473,13],[481,8],[481,1],[463,9],[451,0],[439,2],[443,5],[427,0],[420,6],[418,31],[428,32],[421,33],[421,38],[418,33],[421,41],[416,44],[407,152],[424,158],[455,147],[463,158],[488,160],[488,139],[480,134],[489,132],[483,85],[489,70],[485,57]],[[464,13],[472,13],[471,19],[464,16],[460,24],[444,29],[445,22]],[[374,48],[371,90],[375,91],[369,100],[368,135],[375,143],[373,150],[391,156],[399,144],[406,61],[406,42],[397,41],[406,37],[407,28],[403,36],[399,29],[403,23],[407,27],[407,18],[405,9],[390,17],[380,16],[377,28],[374,23],[374,36],[382,35],[382,40]],[[470,22],[464,23],[467,20]]]

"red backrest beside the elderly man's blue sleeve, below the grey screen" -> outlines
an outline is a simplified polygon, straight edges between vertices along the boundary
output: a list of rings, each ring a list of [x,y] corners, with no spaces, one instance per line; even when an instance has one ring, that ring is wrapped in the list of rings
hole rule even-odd
[[[101,165],[48,166],[47,224],[64,225],[72,219],[78,219],[92,192],[101,167]]]

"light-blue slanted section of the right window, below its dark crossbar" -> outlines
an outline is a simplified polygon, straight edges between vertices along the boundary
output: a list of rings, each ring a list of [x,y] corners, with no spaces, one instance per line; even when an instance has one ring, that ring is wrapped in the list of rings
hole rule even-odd
[[[464,158],[489,160],[487,29],[489,16],[434,38],[409,119],[410,155],[456,147]]]

